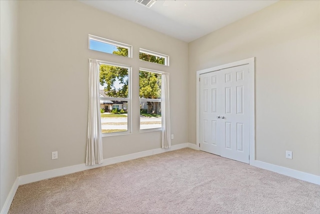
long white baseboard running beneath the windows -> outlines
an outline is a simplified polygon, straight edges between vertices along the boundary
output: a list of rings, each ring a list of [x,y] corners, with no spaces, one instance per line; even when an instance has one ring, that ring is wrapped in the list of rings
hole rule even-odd
[[[83,171],[86,169],[92,169],[92,168],[96,168],[96,167],[119,163],[119,162],[123,162],[123,161],[127,161],[127,160],[133,160],[136,158],[146,157],[146,156],[159,154],[159,153],[163,153],[163,152],[167,152],[167,151],[172,151],[172,150],[176,150],[176,149],[181,149],[181,148],[185,148],[185,147],[188,147],[188,143],[181,143],[181,144],[177,144],[177,145],[172,145],[171,148],[168,148],[168,149],[157,148],[157,149],[151,149],[151,150],[147,150],[147,151],[141,151],[141,152],[136,152],[136,153],[132,153],[132,154],[127,154],[127,155],[123,155],[123,156],[118,156],[118,157],[106,158],[103,160],[103,163],[96,164],[94,166],[86,166],[85,163],[81,163],[81,164],[77,164],[77,165],[73,165],[73,166],[67,166],[67,167],[63,167],[63,168],[57,168],[57,169],[52,169],[52,170],[47,170],[47,171],[42,171],[42,172],[36,172],[36,173],[32,173],[32,174],[26,174],[26,175],[22,175],[19,177],[19,185],[31,183],[31,182],[35,182],[35,181],[39,181],[39,180],[44,180],[44,179],[48,179],[48,178],[52,178],[52,177],[62,176],[62,175],[66,175],[66,174],[71,174],[71,173]]]

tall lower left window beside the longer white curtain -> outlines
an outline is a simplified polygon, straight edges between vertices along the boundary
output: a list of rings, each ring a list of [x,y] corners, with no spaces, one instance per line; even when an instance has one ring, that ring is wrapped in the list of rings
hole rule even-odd
[[[130,132],[130,67],[100,63],[102,133]]]

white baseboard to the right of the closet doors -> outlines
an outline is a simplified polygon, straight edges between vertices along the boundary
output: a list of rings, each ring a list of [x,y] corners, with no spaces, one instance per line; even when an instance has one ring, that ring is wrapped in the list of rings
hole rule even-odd
[[[294,177],[299,180],[304,180],[304,181],[307,181],[310,183],[315,183],[315,184],[320,185],[320,176],[318,176],[318,175],[309,174],[306,172],[301,172],[298,170],[294,170],[294,169],[286,168],[283,166],[278,166],[278,165],[262,162],[259,160],[253,160],[252,163],[250,162],[250,165],[256,166],[256,167],[259,167],[262,169],[267,169],[269,171],[273,171],[273,172],[276,172],[279,174],[287,175],[289,177]]]

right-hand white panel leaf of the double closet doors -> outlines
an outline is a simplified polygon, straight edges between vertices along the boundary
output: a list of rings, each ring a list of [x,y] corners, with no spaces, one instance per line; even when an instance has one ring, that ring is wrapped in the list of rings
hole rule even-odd
[[[220,155],[249,163],[248,65],[223,69]]]

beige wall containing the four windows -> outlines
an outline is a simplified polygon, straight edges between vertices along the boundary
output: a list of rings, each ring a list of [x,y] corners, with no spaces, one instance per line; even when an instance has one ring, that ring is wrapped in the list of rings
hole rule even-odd
[[[187,142],[186,43],[77,1],[19,10],[19,175],[84,163],[88,58],[132,66],[132,134],[104,137],[104,158],[160,148],[159,131],[139,133],[139,67],[170,73],[172,145]],[[132,45],[133,58],[88,50],[88,34]],[[170,66],[141,62],[139,48],[169,55]]]

